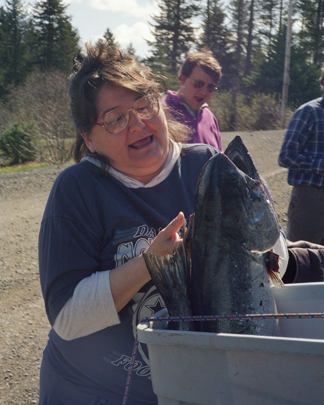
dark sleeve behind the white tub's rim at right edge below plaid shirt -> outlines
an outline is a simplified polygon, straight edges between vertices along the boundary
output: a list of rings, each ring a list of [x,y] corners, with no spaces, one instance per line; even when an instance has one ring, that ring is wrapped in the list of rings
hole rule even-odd
[[[286,243],[289,259],[283,282],[324,281],[324,246],[307,241],[286,240]]]

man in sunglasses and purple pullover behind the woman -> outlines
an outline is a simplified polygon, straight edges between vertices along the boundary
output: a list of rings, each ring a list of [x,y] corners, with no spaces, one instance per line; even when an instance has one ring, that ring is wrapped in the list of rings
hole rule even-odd
[[[179,90],[166,92],[164,102],[171,114],[192,131],[188,143],[207,143],[222,150],[218,122],[207,104],[221,75],[221,67],[210,51],[190,53],[180,69]]]

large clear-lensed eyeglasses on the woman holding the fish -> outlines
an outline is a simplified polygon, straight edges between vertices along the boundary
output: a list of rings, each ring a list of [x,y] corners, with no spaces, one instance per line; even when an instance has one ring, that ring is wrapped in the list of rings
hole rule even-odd
[[[132,110],[142,120],[151,120],[151,118],[159,114],[159,100],[155,96],[142,97],[136,100],[132,108],[118,107],[112,111],[108,111],[102,118],[103,124],[96,123],[96,125],[105,127],[106,131],[111,134],[118,134],[127,127],[130,118],[129,112]]]

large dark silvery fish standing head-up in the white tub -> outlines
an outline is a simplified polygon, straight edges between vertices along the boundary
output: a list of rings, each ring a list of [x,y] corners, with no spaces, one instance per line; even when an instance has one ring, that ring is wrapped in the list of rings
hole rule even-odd
[[[193,315],[274,313],[263,252],[273,247],[279,228],[260,183],[237,169],[224,154],[214,156],[201,173],[193,221]],[[196,329],[279,333],[273,320],[200,322]]]

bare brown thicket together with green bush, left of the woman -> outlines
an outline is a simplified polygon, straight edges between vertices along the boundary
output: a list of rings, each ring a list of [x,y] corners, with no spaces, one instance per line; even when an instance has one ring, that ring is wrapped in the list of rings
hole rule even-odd
[[[0,111],[0,166],[71,159],[74,125],[61,71],[34,71]]]

